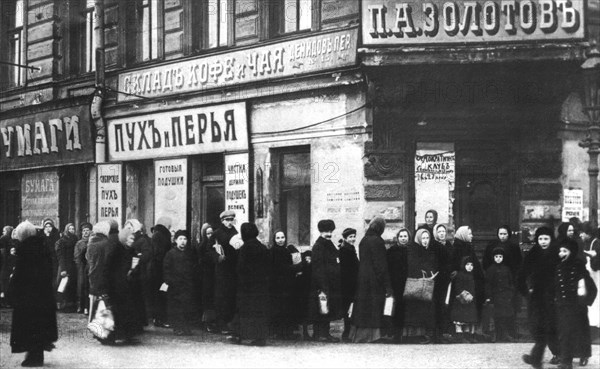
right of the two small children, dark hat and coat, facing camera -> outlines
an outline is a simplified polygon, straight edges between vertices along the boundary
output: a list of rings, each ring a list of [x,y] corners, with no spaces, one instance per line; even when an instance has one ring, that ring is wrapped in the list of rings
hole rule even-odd
[[[514,342],[509,329],[514,319],[512,297],[515,293],[511,269],[505,264],[504,249],[495,248],[493,251],[494,264],[485,272],[486,304],[493,304],[496,340],[499,342]]]

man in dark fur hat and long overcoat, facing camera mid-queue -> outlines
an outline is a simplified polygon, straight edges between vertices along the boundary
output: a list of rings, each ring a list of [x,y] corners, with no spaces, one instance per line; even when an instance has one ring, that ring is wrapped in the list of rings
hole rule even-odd
[[[312,276],[309,314],[313,323],[316,341],[338,342],[339,339],[329,333],[332,320],[340,319],[342,312],[342,284],[340,270],[340,254],[331,242],[335,230],[333,220],[320,220],[318,223],[320,236],[312,247]],[[320,308],[320,295],[327,300],[325,314]],[[323,296],[323,295],[321,295]]]

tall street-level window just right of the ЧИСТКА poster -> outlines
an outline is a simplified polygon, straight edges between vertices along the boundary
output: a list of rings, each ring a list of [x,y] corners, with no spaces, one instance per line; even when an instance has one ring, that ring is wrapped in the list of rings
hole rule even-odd
[[[293,245],[310,244],[310,148],[279,153],[279,223]]]

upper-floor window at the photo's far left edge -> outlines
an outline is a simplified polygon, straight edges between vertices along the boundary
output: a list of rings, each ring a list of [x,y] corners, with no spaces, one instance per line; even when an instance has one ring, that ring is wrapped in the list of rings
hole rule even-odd
[[[0,44],[1,58],[10,63],[2,68],[0,88],[12,88],[25,85],[26,69],[19,67],[26,63],[25,47],[25,13],[26,0],[2,1],[2,24],[0,33],[2,42]]]

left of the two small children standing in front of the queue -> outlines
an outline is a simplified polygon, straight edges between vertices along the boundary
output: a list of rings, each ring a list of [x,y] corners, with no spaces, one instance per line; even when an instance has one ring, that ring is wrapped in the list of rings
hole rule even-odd
[[[462,259],[461,270],[454,279],[454,305],[451,319],[456,333],[463,343],[475,342],[475,324],[477,324],[477,306],[475,305],[475,277],[473,275],[473,259],[465,256]]]

